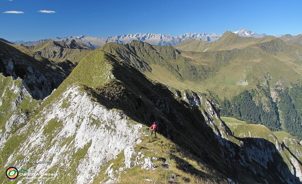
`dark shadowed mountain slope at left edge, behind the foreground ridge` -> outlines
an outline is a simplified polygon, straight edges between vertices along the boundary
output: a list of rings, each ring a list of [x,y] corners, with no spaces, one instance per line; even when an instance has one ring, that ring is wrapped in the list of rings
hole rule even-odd
[[[72,66],[65,70],[55,62],[18,45],[0,41],[0,72],[4,76],[23,79],[35,99],[50,95],[66,79]]]

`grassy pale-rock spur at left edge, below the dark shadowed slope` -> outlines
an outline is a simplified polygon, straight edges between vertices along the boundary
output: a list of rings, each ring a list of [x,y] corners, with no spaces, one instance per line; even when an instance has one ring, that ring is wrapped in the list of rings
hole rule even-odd
[[[27,123],[32,110],[38,108],[26,84],[20,78],[5,77],[0,74],[0,150],[11,136]],[[31,106],[32,110],[26,106]]]

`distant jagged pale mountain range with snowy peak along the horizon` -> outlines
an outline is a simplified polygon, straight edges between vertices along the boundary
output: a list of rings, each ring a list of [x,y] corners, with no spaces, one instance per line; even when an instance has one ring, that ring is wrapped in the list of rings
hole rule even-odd
[[[255,38],[261,38],[261,37],[265,37],[268,36],[267,34],[257,34],[254,33],[252,31],[249,31],[247,29],[240,29],[239,31],[234,31],[233,33],[241,36],[241,37],[255,37]],[[296,35],[299,36],[302,33]],[[47,40],[53,40],[53,41],[68,41],[68,40],[76,40],[76,42],[82,42],[83,44],[87,45],[88,47],[92,48],[92,49],[96,49],[98,47],[103,46],[106,43],[110,43],[110,42],[114,42],[117,44],[129,44],[132,40],[139,40],[139,41],[144,41],[147,42],[149,44],[152,45],[159,45],[159,46],[166,46],[166,45],[176,45],[179,44],[180,42],[182,42],[183,40],[191,40],[191,39],[195,39],[195,40],[204,40],[204,41],[208,41],[208,42],[212,42],[215,40],[218,40],[222,35],[221,34],[216,34],[216,33],[186,33],[186,34],[182,34],[182,35],[178,35],[176,37],[172,37],[170,34],[153,34],[153,33],[147,33],[147,34],[141,34],[141,33],[137,33],[137,34],[125,34],[122,36],[115,36],[115,37],[107,37],[107,38],[98,38],[98,37],[90,37],[90,36],[85,36],[85,35],[81,35],[78,37],[74,37],[74,36],[69,36],[69,37],[56,37],[55,39],[42,39],[42,40],[37,40],[37,41],[28,41],[28,42],[24,42],[24,41],[11,41],[12,43],[16,44],[16,45],[24,45],[24,46],[35,46],[39,43],[45,42]],[[275,35],[273,35],[275,36]],[[278,35],[275,37],[281,37],[283,35]],[[292,36],[290,35],[291,38],[289,38],[288,36],[286,37],[286,39],[290,39],[293,40],[292,42],[297,42],[295,40],[299,40],[296,39],[296,36]],[[282,39],[282,37],[281,37]],[[289,41],[289,40],[286,40]],[[300,44],[300,42],[297,42]]]

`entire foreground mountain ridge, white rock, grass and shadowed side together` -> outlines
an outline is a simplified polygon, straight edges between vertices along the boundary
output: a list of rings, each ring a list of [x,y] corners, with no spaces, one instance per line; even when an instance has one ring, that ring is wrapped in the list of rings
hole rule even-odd
[[[154,179],[159,183],[169,182],[172,174],[180,183],[202,183],[200,177],[239,183],[300,182],[290,170],[292,162],[299,162],[280,156],[282,146],[274,136],[234,137],[202,94],[150,80],[100,49],[85,56],[28,115],[16,132],[10,132],[15,124],[9,122],[2,130],[1,172],[14,165],[30,173],[58,176],[18,176],[13,183],[109,183],[118,176],[121,182],[131,178],[137,183],[150,173],[165,179]],[[154,121],[159,125],[158,140],[150,138],[147,130]],[[11,145],[11,140],[17,141]],[[3,175],[0,179],[8,181]]]

